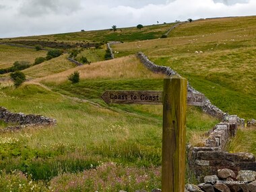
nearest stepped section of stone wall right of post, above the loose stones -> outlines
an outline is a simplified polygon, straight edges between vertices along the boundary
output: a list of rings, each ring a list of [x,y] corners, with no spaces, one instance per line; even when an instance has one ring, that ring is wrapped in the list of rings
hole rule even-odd
[[[236,134],[238,121],[236,115],[230,115],[228,122],[217,124],[207,134],[203,147],[188,146],[189,169],[203,181],[205,175],[216,175],[218,169],[230,169],[234,173],[246,169],[256,171],[256,161],[253,154],[224,151],[226,143]]]

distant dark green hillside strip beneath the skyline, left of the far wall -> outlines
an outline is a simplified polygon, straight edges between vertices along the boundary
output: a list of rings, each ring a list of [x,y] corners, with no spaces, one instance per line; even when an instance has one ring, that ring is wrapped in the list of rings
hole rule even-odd
[[[139,23],[138,23],[139,24]],[[152,40],[160,38],[162,34],[168,31],[174,23],[165,23],[152,26],[144,26],[141,30],[133,28],[119,28],[113,30],[97,30],[85,32],[71,32],[66,34],[53,34],[46,36],[32,36],[24,38],[11,38],[11,40],[39,40],[39,41],[55,41],[55,42],[109,42],[123,41],[133,42],[137,40]],[[111,26],[109,27],[110,29]],[[5,39],[3,39],[5,40]],[[8,39],[9,40],[9,39]]]

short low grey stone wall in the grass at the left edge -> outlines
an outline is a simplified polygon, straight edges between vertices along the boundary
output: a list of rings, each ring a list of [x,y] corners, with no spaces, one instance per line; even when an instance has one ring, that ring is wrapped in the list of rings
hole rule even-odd
[[[24,113],[12,113],[5,107],[0,107],[0,119],[4,122],[11,124],[18,124],[19,126],[13,126],[7,128],[7,130],[19,130],[25,125],[42,125],[42,126],[55,126],[57,121],[49,117],[42,115],[25,115]]]

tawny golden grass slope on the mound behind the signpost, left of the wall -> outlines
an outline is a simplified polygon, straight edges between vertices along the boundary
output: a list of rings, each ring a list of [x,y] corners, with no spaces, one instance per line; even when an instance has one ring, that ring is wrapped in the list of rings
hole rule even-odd
[[[67,81],[67,76],[75,71],[79,72],[80,79],[132,79],[138,77],[162,79],[164,77],[164,75],[154,74],[150,70],[146,70],[135,56],[126,56],[77,66],[38,80],[59,84]]]

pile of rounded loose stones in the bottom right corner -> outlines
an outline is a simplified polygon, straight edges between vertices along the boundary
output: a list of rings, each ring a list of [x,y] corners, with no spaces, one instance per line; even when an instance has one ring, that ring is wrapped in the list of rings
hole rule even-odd
[[[256,171],[242,170],[236,175],[230,169],[219,169],[217,175],[207,175],[204,183],[187,184],[185,191],[190,192],[256,192]]]

